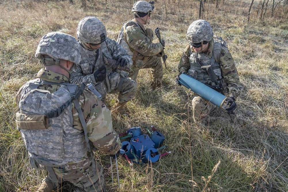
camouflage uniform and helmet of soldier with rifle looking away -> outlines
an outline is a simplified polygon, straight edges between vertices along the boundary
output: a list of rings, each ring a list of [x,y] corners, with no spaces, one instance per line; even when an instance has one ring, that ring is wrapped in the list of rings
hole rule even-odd
[[[143,13],[152,10],[151,5],[145,1],[137,1],[132,8],[134,12]],[[143,24],[136,19],[125,23],[118,37],[118,43],[128,51],[133,60],[133,72],[130,72],[130,77],[136,81],[140,69],[152,68],[154,82],[161,84],[163,68],[161,57],[158,57],[157,54],[163,50],[163,46],[161,43],[152,43],[152,41],[153,30],[145,29]]]

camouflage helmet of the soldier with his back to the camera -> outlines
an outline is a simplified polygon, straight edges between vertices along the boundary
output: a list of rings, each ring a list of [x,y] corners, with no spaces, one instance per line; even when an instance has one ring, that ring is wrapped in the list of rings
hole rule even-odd
[[[41,59],[45,66],[59,65],[60,59],[79,64],[80,49],[75,37],[66,33],[50,32],[41,38],[35,57]]]

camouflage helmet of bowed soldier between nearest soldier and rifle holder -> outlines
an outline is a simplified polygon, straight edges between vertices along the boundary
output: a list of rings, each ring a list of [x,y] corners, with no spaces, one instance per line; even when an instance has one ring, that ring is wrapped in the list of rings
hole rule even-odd
[[[104,24],[96,17],[85,17],[78,24],[77,38],[81,43],[100,44],[106,35]]]

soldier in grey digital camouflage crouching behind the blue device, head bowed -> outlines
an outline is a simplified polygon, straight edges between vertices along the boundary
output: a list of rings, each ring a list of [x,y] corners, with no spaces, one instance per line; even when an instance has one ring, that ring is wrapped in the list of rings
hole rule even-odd
[[[116,41],[106,37],[106,28],[96,17],[85,17],[79,22],[77,39],[81,45],[81,61],[74,66],[70,82],[92,83],[103,96],[104,103],[107,93],[119,92],[114,107],[125,114],[126,103],[137,91],[137,83],[124,71],[132,66],[130,55]]]

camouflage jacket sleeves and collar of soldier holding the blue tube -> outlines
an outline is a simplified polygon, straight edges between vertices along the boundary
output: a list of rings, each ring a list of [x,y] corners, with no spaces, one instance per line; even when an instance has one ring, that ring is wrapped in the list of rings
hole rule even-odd
[[[209,48],[207,53],[205,53],[206,56],[211,58],[213,56],[213,47],[214,42],[209,42]],[[178,65],[179,72],[185,72],[187,73],[190,69],[190,56],[192,53],[195,53],[192,49],[192,46],[189,44],[186,46],[186,48],[183,51],[180,63]],[[242,92],[243,90],[243,84],[239,80],[239,75],[236,69],[236,66],[234,64],[232,55],[230,54],[228,48],[221,47],[220,52],[220,68],[221,68],[221,75],[225,80],[225,83],[227,84],[228,94],[233,93],[236,97]]]

